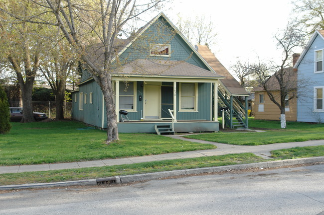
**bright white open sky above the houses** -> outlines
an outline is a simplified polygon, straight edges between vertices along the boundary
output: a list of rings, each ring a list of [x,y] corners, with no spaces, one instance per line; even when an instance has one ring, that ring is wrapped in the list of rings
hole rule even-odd
[[[175,25],[178,14],[210,17],[218,34],[210,49],[229,70],[237,61],[256,62],[257,56],[279,64],[282,51],[274,35],[285,29],[292,9],[291,0],[173,0],[163,12]]]

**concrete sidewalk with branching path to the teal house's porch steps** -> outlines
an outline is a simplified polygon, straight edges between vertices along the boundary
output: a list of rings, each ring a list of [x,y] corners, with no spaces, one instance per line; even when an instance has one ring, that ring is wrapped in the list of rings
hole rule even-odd
[[[73,169],[73,168],[96,167],[96,166],[112,166],[112,165],[132,164],[132,163],[141,163],[141,162],[149,162],[149,161],[157,161],[157,160],[171,160],[171,159],[179,159],[179,158],[203,157],[203,156],[236,154],[236,153],[245,153],[245,152],[251,152],[258,156],[262,156],[263,158],[269,158],[268,156],[271,155],[270,151],[276,149],[292,148],[297,146],[303,147],[303,146],[324,145],[324,140],[294,142],[294,143],[274,143],[268,145],[252,146],[252,145],[231,145],[231,144],[224,144],[224,143],[214,143],[214,142],[193,140],[193,139],[183,138],[178,135],[168,135],[168,137],[190,141],[190,142],[196,142],[196,143],[209,143],[209,144],[216,145],[217,148],[209,149],[209,150],[157,154],[157,155],[142,156],[142,157],[81,161],[81,162],[72,162],[72,163],[0,166],[0,174],[47,171],[47,170],[58,170],[58,169]]]

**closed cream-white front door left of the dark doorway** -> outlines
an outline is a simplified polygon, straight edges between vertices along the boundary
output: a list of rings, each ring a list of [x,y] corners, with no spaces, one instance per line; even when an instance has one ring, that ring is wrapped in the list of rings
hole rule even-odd
[[[160,85],[145,86],[145,119],[159,119]]]

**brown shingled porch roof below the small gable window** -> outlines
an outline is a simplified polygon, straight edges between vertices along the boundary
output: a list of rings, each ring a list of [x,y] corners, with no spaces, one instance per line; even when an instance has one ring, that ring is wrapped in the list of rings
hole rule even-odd
[[[174,76],[174,77],[198,77],[198,78],[223,78],[223,76],[204,70],[200,67],[184,61],[137,59],[122,66],[115,75],[128,76]]]

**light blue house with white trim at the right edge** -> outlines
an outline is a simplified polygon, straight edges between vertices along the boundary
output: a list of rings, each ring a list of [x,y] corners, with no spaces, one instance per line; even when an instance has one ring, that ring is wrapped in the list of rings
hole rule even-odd
[[[299,122],[324,122],[323,56],[324,30],[317,30],[294,66],[298,69],[298,85],[306,85],[298,88],[297,121]]]

